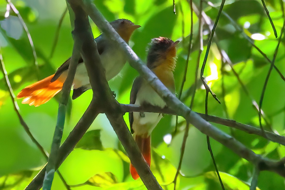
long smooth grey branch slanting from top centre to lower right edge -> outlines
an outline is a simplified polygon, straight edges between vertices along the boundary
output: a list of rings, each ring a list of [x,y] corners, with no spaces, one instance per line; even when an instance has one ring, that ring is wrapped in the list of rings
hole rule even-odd
[[[187,121],[193,124],[202,133],[217,140],[224,146],[230,148],[233,152],[242,158],[245,158],[253,164],[257,164],[260,171],[269,170],[285,177],[284,160],[275,161],[255,154],[252,150],[246,148],[241,142],[231,137],[230,135],[217,129],[209,122],[202,119],[197,113],[191,112],[190,108],[179,101],[152,73],[146,65],[139,59],[133,50],[125,43],[123,39],[115,32],[111,25],[101,15],[98,9],[89,0],[82,0],[82,5],[86,13],[95,22],[95,24],[109,37],[114,45],[120,47],[127,56],[130,65],[135,68],[141,76],[152,86],[152,88],[162,97],[166,104],[173,109],[177,114],[184,117]]]

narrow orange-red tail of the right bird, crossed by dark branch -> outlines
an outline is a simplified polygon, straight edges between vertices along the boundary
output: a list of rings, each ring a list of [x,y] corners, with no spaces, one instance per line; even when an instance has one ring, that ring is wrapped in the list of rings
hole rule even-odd
[[[151,162],[150,136],[144,138],[142,136],[136,135],[135,141],[136,141],[139,149],[141,150],[141,153],[143,154],[144,160],[147,162],[148,166],[150,167],[150,162]],[[135,180],[139,179],[140,176],[132,164],[130,164],[130,172],[131,172],[133,179],[135,179]]]

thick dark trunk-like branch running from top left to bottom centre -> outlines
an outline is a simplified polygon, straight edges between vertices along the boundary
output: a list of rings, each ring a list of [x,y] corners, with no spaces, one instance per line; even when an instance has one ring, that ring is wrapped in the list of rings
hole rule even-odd
[[[135,143],[124,119],[121,114],[121,107],[113,97],[113,93],[108,85],[105,77],[103,66],[101,65],[100,56],[97,46],[93,40],[93,34],[89,25],[88,16],[83,11],[80,4],[69,1],[76,17],[80,18],[78,22],[82,24],[82,34],[78,36],[83,42],[81,54],[87,68],[92,90],[95,91],[95,97],[100,100],[102,111],[109,119],[114,131],[116,132],[120,142],[125,148],[131,163],[137,169],[144,185],[147,189],[162,190],[150,168],[143,159],[143,156]]]

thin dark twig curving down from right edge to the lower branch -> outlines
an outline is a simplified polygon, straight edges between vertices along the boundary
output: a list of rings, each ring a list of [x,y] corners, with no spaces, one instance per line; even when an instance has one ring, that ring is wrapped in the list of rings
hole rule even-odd
[[[281,5],[283,6],[283,5]],[[283,32],[284,32],[284,27],[285,27],[285,21],[283,21],[283,26],[282,26],[282,29],[281,29],[281,32],[280,32],[280,37],[279,37],[279,40],[278,40],[278,44],[275,48],[275,51],[274,51],[274,56],[273,56],[273,59],[272,59],[272,62],[271,62],[271,65],[270,65],[270,68],[268,70],[268,73],[267,73],[267,76],[266,76],[266,79],[265,79],[265,82],[264,82],[264,86],[263,86],[263,89],[262,89],[262,93],[261,93],[261,96],[260,96],[260,102],[259,102],[259,112],[258,112],[258,117],[259,117],[259,125],[260,125],[260,128],[261,130],[264,132],[264,129],[262,127],[262,123],[261,123],[261,107],[262,107],[262,102],[263,102],[263,98],[264,98],[264,93],[265,93],[265,89],[266,89],[266,85],[268,83],[268,79],[270,77],[270,73],[273,69],[273,66],[274,66],[274,62],[275,62],[275,59],[276,59],[276,56],[277,56],[277,52],[278,52],[278,48],[279,48],[279,45],[280,45],[280,42],[281,42],[281,39],[282,39],[282,35],[283,35]]]

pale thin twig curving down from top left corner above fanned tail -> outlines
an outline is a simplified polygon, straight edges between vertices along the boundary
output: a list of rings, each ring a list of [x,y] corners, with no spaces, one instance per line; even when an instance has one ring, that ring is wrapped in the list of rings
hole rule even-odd
[[[25,21],[23,20],[23,18],[21,17],[19,11],[16,9],[16,7],[14,6],[14,4],[11,2],[11,0],[6,0],[6,2],[10,5],[11,9],[13,10],[13,12],[17,15],[17,17],[19,18],[19,21],[20,23],[22,24],[22,26],[24,27],[26,33],[27,33],[27,36],[28,36],[28,39],[29,39],[29,42],[30,42],[30,45],[31,45],[31,48],[32,48],[32,51],[33,51],[33,56],[34,56],[34,64],[35,64],[35,69],[36,69],[36,73],[37,73],[37,77],[39,79],[39,69],[38,69],[38,58],[37,58],[37,55],[36,55],[36,50],[35,50],[35,47],[34,47],[34,42],[32,40],[32,37],[31,37],[31,34],[28,30],[28,27],[25,23]]]

